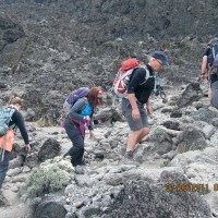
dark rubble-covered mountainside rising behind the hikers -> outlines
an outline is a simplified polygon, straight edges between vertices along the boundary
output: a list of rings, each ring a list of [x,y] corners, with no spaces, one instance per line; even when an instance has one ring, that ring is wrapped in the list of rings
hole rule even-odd
[[[167,84],[195,80],[204,43],[216,35],[214,0],[0,3],[2,88],[13,87],[25,99],[24,110],[34,110],[33,121],[43,119],[44,125],[57,123],[74,88],[108,90],[129,56],[146,62],[150,52],[164,50],[171,62],[165,72]]]

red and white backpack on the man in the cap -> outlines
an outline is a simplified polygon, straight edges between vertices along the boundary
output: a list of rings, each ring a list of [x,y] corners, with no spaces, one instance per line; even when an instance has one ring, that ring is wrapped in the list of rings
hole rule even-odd
[[[149,77],[155,77],[155,76],[149,75],[149,71],[147,70],[147,66],[141,63],[136,58],[130,58],[123,61],[112,85],[112,89],[118,97],[120,98],[126,97],[128,84],[130,83],[132,73],[137,68],[144,68],[146,70],[145,82]],[[145,82],[143,82],[141,85],[143,85]]]

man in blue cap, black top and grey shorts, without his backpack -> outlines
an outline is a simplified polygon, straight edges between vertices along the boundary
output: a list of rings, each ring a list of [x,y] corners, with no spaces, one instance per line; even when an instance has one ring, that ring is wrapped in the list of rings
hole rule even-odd
[[[149,96],[155,86],[153,75],[155,72],[162,70],[164,65],[169,65],[166,55],[162,51],[155,51],[146,64],[150,75],[149,78],[145,82],[146,70],[137,68],[128,85],[128,98],[122,98],[122,113],[131,129],[125,152],[126,159],[133,159],[133,152],[137,143],[149,133],[147,116],[153,112],[149,101]],[[146,106],[146,110],[144,106]]]

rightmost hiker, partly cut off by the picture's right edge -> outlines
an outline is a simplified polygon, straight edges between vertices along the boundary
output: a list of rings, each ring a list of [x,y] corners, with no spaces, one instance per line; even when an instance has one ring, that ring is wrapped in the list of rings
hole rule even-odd
[[[218,38],[213,38],[204,51],[202,60],[202,81],[209,81],[208,96],[211,105],[218,109]]]

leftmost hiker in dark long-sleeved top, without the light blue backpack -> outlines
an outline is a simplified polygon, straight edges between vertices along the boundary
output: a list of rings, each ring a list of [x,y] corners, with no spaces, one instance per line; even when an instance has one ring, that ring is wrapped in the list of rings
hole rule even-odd
[[[26,145],[26,152],[31,152],[31,145],[28,141],[28,134],[26,131],[26,126],[24,123],[23,116],[20,112],[21,106],[22,106],[23,99],[19,97],[11,97],[9,100],[9,107],[14,110],[11,121],[9,122],[9,130],[8,133],[0,137],[0,206],[8,206],[9,202],[3,196],[1,187],[2,183],[4,181],[7,171],[9,169],[9,160],[10,160],[10,153],[13,145],[14,140],[14,133],[15,129],[19,128],[21,135],[24,140],[24,143]]]

